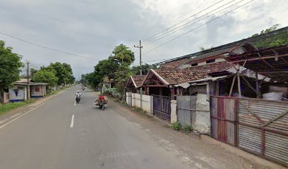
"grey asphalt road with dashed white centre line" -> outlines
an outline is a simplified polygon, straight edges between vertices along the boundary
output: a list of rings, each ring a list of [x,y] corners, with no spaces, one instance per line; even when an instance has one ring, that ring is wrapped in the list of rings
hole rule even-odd
[[[118,110],[95,107],[94,92],[74,106],[77,89],[0,127],[1,169],[187,167]]]

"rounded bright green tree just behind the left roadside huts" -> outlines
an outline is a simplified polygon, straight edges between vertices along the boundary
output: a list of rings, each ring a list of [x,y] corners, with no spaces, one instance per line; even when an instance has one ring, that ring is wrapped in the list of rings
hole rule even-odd
[[[54,75],[52,71],[49,70],[39,70],[33,76],[34,82],[45,82],[49,84],[49,87],[56,86],[58,82],[58,77]]]

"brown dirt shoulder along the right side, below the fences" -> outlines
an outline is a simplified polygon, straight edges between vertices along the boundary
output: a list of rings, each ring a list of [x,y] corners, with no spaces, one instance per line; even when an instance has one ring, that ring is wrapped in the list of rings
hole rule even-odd
[[[113,108],[127,120],[138,123],[155,142],[192,168],[284,168],[229,144],[218,142],[207,135],[193,132],[185,134],[172,130],[167,123],[133,111],[131,107],[113,99],[109,99],[109,108]]]

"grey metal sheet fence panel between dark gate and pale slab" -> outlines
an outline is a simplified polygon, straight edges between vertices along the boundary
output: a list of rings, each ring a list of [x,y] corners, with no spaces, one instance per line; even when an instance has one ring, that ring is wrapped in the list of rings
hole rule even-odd
[[[181,125],[195,127],[196,101],[197,96],[177,96],[177,119]]]

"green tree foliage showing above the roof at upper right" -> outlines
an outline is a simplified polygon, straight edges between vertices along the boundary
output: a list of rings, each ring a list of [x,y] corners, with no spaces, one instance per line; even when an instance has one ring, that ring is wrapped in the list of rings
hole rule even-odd
[[[257,35],[263,35],[268,32],[272,32],[274,30],[277,30],[279,27],[279,24],[272,25],[272,27],[269,27],[268,29],[262,30],[258,34],[254,34],[251,37],[255,37]],[[287,45],[288,44],[288,32],[282,32],[277,35],[273,35],[272,37],[268,37],[266,39],[260,39],[256,42],[252,42],[257,48],[269,48],[272,46],[280,46],[280,45]]]

